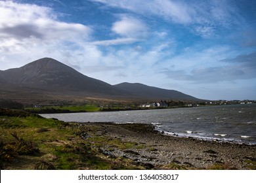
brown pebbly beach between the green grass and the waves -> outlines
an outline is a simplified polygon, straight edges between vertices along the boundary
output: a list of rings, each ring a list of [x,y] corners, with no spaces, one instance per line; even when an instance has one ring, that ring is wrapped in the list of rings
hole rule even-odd
[[[90,133],[121,142],[130,148],[102,144],[102,154],[112,158],[129,158],[148,169],[255,169],[256,146],[164,135],[147,124],[85,123]],[[89,133],[85,132],[84,138]]]

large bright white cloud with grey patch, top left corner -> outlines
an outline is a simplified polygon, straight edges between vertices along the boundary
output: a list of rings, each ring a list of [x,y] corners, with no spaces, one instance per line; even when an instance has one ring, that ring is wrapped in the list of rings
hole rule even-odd
[[[0,1],[0,52],[24,52],[33,46],[88,40],[91,29],[56,19],[51,8]]]

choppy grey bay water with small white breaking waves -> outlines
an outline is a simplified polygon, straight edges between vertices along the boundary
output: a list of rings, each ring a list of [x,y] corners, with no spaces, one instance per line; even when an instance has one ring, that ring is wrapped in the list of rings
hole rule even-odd
[[[256,144],[256,105],[41,114],[65,122],[154,124],[156,129],[180,137]]]

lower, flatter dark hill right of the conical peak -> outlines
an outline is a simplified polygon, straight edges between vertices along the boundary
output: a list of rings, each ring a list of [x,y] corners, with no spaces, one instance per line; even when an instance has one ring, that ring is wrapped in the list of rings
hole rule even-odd
[[[165,90],[152,86],[147,86],[140,83],[128,83],[123,82],[121,84],[114,85],[120,90],[124,90],[129,93],[133,93],[140,98],[146,99],[180,99],[180,100],[198,100],[195,97],[186,95],[176,90]]]

